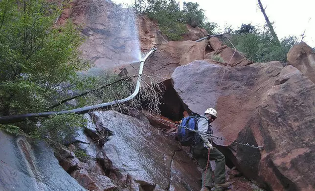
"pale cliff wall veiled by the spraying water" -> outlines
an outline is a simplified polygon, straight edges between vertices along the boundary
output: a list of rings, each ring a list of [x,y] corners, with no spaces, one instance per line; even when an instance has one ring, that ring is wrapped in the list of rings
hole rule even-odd
[[[111,1],[74,0],[59,23],[66,19],[82,27],[86,40],[80,51],[95,67],[113,70],[140,59],[137,22],[131,10]]]

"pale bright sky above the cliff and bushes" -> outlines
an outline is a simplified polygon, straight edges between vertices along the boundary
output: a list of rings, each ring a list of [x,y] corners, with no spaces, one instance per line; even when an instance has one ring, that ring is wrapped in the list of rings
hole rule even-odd
[[[134,0],[112,0],[131,4]],[[242,23],[263,26],[265,19],[257,0],[177,0],[198,2],[211,22],[217,22],[223,29],[231,25],[234,29]],[[295,35],[299,40],[305,30],[304,41],[315,47],[315,0],[261,0],[270,21],[274,21],[278,38]]]

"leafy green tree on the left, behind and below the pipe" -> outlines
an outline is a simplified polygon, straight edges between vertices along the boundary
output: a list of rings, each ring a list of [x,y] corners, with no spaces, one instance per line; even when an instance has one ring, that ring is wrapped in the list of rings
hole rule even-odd
[[[60,14],[53,1],[0,1],[0,115],[45,111],[70,87],[64,84],[77,83],[77,71],[90,67],[78,57],[83,38],[74,25],[54,26]],[[58,115],[1,129],[59,140],[82,124],[82,116]]]

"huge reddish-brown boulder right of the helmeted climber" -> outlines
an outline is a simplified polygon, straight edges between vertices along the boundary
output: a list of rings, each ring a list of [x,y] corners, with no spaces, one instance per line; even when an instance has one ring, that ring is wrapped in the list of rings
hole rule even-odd
[[[315,85],[296,68],[269,62],[225,69],[202,60],[178,67],[172,80],[186,109],[217,109],[214,135],[264,146],[260,152],[215,139],[247,177],[273,191],[315,190]]]

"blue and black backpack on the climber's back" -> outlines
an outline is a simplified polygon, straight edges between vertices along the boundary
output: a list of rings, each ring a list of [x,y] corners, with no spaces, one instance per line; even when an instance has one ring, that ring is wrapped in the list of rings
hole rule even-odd
[[[195,132],[189,131],[184,128],[184,127],[187,127],[188,129],[198,131],[197,119],[199,117],[202,117],[202,116],[189,115],[187,117],[184,117],[181,120],[180,126],[178,126],[178,129],[177,129],[177,138],[180,141],[180,144],[182,146],[190,146],[194,142],[196,143],[196,141],[197,142],[199,141],[199,140],[196,140],[196,139],[200,139],[199,134],[196,134]]]

